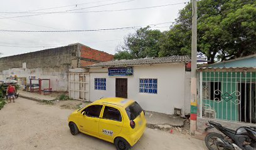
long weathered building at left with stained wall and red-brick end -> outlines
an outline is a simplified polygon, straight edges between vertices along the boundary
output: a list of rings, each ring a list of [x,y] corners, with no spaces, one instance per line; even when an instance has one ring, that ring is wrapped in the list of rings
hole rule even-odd
[[[51,79],[53,91],[67,91],[68,69],[81,68],[112,59],[114,56],[111,54],[80,43],[70,44],[0,58],[0,80],[16,75],[19,79],[23,79],[21,84],[28,84],[29,78],[47,78]]]

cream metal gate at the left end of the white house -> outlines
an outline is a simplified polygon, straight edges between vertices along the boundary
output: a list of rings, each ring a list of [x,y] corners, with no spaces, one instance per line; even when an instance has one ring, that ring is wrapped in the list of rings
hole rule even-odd
[[[72,99],[89,101],[89,73],[69,73],[68,94]]]

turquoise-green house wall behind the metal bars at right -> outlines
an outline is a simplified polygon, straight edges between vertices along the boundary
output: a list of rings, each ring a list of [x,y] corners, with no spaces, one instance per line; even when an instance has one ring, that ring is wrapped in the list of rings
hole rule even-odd
[[[220,82],[220,100],[222,100],[213,101],[209,98],[203,98],[203,104],[210,104],[211,109],[216,112],[216,119],[238,121],[240,104],[237,104],[237,99],[240,99],[241,94],[235,91],[239,91],[238,88],[241,83],[250,82],[251,80],[255,82],[256,73],[203,72],[202,75],[203,83]],[[203,92],[205,92],[204,88]]]

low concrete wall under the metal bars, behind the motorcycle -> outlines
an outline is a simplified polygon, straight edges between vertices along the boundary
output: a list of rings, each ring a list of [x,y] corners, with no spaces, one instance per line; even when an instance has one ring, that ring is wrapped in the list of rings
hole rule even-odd
[[[197,120],[196,120],[197,130],[200,132],[205,131],[205,128],[206,128],[205,124],[208,123],[208,121],[214,121],[216,123],[221,124],[222,126],[225,126],[226,128],[230,128],[233,130],[236,130],[237,128],[239,128],[241,126],[255,126],[256,127],[256,124],[250,124],[250,123],[238,123],[238,122],[234,122],[234,121],[223,121],[223,120],[218,120],[218,119],[197,118]],[[214,129],[212,131],[216,131],[216,129]]]

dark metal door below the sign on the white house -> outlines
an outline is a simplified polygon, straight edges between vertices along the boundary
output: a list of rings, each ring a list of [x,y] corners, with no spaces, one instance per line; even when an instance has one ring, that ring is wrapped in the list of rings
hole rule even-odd
[[[127,98],[127,78],[115,79],[115,97]]]

